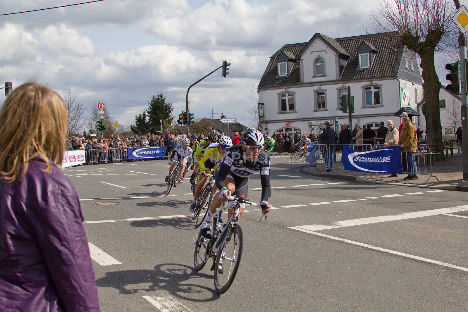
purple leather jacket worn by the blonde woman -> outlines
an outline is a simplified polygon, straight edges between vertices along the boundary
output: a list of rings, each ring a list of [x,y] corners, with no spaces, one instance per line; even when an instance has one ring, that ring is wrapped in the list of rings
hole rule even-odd
[[[0,181],[0,311],[99,311],[80,202],[55,164]]]

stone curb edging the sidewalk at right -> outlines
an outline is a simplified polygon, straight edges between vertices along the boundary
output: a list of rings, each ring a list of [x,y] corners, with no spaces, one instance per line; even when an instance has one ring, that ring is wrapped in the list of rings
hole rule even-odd
[[[345,180],[345,181],[352,181],[352,182],[363,182],[363,183],[374,183],[374,184],[387,184],[387,185],[396,185],[396,186],[405,186],[405,187],[414,187],[414,188],[421,188],[421,189],[443,189],[446,191],[461,191],[461,192],[468,192],[468,186],[464,185],[420,185],[420,184],[408,184],[408,183],[401,183],[401,182],[385,182],[385,181],[377,181],[374,179],[368,178],[361,178],[355,177],[350,175],[340,175],[340,174],[322,174],[317,172],[316,174],[305,170],[305,168],[310,167],[300,167],[298,171],[301,174],[307,174],[312,176],[318,176],[321,178],[327,179],[336,179],[336,180]]]

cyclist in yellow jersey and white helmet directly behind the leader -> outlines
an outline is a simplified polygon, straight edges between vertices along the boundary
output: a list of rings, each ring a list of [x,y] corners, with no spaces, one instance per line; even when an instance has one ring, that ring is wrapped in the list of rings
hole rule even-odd
[[[218,167],[219,163],[223,160],[224,154],[229,148],[231,148],[231,146],[233,146],[231,138],[228,136],[222,136],[219,138],[219,143],[213,143],[206,147],[203,157],[198,161],[200,173],[203,173],[205,176],[195,187],[193,202],[189,208],[190,212],[195,210],[195,203],[197,202],[198,196],[200,196],[203,188],[205,187],[205,183],[207,181],[206,172],[211,169],[215,170]],[[214,191],[216,192],[216,189]]]

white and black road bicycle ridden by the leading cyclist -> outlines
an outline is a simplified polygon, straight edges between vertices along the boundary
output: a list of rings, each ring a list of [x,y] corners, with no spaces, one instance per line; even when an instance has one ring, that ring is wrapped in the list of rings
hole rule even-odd
[[[229,289],[241,262],[243,236],[241,226],[238,223],[241,203],[260,208],[259,204],[249,202],[246,198],[229,196],[229,200],[236,202],[234,207],[224,206],[223,204],[223,206],[216,209],[218,215],[213,218],[211,224],[211,238],[201,236],[200,230],[193,239],[195,244],[194,268],[200,271],[205,267],[208,259],[213,258],[211,271],[214,270],[214,289],[219,294]],[[221,213],[226,208],[234,208],[234,213],[226,225],[222,225]],[[266,218],[266,214],[262,213],[262,217],[256,221],[261,222]],[[222,265],[222,270],[219,269],[220,265]]]

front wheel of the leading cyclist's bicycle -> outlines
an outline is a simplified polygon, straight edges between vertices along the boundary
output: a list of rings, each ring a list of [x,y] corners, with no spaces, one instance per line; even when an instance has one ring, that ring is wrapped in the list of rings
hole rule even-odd
[[[227,237],[224,246],[218,249],[214,266],[214,289],[217,293],[226,292],[234,281],[234,277],[241,263],[242,256],[242,229],[237,224]],[[219,262],[222,262],[223,273],[219,273]]]

